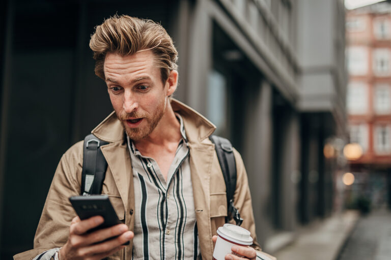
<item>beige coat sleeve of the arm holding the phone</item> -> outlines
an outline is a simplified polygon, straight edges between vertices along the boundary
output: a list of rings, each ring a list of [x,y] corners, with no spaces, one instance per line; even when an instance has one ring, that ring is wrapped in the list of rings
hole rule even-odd
[[[14,259],[33,259],[38,254],[62,247],[67,242],[70,223],[76,216],[69,197],[80,194],[82,145],[83,141],[73,145],[60,160],[39,220],[34,249],[17,254]]]

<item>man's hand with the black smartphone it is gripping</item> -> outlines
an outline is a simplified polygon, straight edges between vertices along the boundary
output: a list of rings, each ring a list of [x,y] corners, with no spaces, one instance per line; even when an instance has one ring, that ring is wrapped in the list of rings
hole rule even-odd
[[[89,197],[92,198],[73,197],[70,199],[76,213],[80,216],[72,220],[68,241],[59,252],[60,260],[102,259],[124,248],[123,244],[129,242],[134,236],[125,224],[110,225],[121,221],[117,221],[118,217],[113,206],[109,204],[111,209],[107,206],[107,202],[109,203],[107,196]],[[111,210],[114,211],[115,217]],[[89,217],[90,215],[93,216]],[[113,219],[114,222],[111,221]]]

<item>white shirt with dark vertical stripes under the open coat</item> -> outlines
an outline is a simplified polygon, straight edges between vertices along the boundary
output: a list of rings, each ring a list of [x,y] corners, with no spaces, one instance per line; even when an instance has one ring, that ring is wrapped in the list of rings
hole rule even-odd
[[[153,158],[143,156],[128,138],[132,161],[135,220],[134,259],[201,258],[193,191],[190,179],[189,148],[183,121],[182,139],[167,181]]]

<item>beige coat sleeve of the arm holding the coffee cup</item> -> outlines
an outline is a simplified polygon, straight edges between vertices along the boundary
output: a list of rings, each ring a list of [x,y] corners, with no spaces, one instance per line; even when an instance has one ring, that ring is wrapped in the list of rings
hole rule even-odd
[[[248,179],[246,169],[244,168],[242,157],[239,152],[234,149],[236,161],[236,190],[234,193],[235,207],[239,210],[240,216],[243,218],[242,228],[248,230],[253,237],[253,245],[257,250],[257,259],[275,260],[276,258],[263,252],[257,242],[257,235],[255,231],[255,220],[253,213],[253,205],[251,201],[250,189],[248,187]]]

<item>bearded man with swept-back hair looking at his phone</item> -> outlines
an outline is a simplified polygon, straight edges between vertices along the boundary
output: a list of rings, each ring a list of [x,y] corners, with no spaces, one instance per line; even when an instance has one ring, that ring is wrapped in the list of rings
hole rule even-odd
[[[95,73],[106,82],[115,110],[92,131],[109,143],[101,146],[108,163],[102,193],[123,224],[88,233],[103,218],[81,221],[75,215],[68,198],[80,193],[79,142],[63,155],[54,174],[35,249],[14,258],[211,259],[216,230],[227,216],[226,186],[208,139],[214,125],[171,99],[178,83],[172,39],[150,20],[116,15],[97,26],[90,47]],[[254,244],[233,252],[255,259],[258,251],[271,259],[257,245],[247,176],[240,155],[234,154],[234,200]],[[240,257],[227,254],[226,259]]]

